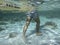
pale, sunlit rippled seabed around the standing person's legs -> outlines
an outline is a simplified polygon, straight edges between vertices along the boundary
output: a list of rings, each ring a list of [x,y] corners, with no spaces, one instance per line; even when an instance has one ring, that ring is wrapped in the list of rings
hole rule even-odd
[[[53,21],[58,26],[57,29],[51,29],[49,27],[43,27],[40,29],[42,35],[36,36],[35,34],[35,23],[31,22],[28,31],[26,33],[26,43],[24,43],[22,38],[22,31],[25,21],[18,21],[15,23],[6,22],[6,25],[0,25],[4,30],[0,31],[0,44],[1,45],[60,45],[60,20],[48,19],[46,17],[40,17],[41,25],[47,21]],[[57,21],[56,21],[57,20]],[[33,25],[33,26],[32,26]]]

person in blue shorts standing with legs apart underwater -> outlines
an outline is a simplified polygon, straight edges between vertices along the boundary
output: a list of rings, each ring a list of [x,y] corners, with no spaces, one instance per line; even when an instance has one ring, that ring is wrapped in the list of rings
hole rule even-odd
[[[39,19],[38,13],[37,13],[37,6],[40,4],[40,2],[38,2],[37,0],[36,1],[30,1],[30,4],[34,7],[34,9],[30,10],[30,12],[27,13],[26,24],[23,28],[23,36],[24,37],[25,37],[25,33],[26,33],[27,28],[28,28],[32,19],[36,22],[36,34],[37,35],[41,34],[41,32],[39,32],[40,19]]]

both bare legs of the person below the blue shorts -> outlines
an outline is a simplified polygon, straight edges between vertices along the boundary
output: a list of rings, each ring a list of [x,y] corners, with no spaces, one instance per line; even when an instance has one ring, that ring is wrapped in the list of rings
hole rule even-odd
[[[28,17],[27,17],[27,20],[26,20],[26,24],[25,24],[25,26],[24,26],[24,28],[23,28],[23,36],[24,36],[24,37],[25,37],[27,28],[28,28],[31,20],[32,20],[31,17],[28,16]],[[40,28],[40,19],[39,19],[39,17],[36,17],[36,18],[34,19],[34,21],[36,22],[36,35],[39,35],[39,34],[40,34],[40,32],[39,32],[39,28]]]

